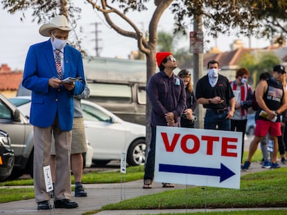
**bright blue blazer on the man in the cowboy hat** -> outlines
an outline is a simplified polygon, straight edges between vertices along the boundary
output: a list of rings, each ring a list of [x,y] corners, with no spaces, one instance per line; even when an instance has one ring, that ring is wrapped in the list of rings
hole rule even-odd
[[[73,95],[79,95],[85,88],[85,75],[82,55],[76,48],[64,47],[64,78],[82,77],[82,82],[75,82],[75,88],[52,88],[49,79],[57,77],[55,59],[50,39],[32,45],[26,57],[22,84],[32,91],[30,123],[37,127],[50,127],[58,114],[62,131],[73,127]]]

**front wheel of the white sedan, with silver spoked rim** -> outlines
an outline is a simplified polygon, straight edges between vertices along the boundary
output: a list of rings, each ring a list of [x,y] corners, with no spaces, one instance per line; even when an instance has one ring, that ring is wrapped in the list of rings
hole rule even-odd
[[[130,166],[138,166],[146,161],[146,141],[135,140],[128,149],[127,162]]]

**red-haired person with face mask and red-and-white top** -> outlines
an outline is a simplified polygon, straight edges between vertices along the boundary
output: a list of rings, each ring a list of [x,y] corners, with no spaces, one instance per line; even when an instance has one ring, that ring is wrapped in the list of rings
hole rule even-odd
[[[253,94],[252,88],[247,84],[250,72],[247,68],[239,68],[236,71],[235,80],[230,82],[234,96],[235,96],[235,111],[231,119],[231,131],[242,132],[242,153],[241,162],[244,150],[244,136],[247,124],[248,109],[252,106]]]

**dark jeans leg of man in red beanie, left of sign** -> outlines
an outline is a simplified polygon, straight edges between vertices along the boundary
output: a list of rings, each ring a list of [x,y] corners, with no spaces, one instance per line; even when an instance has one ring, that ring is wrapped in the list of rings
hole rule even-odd
[[[148,158],[146,160],[146,167],[144,170],[143,180],[153,180],[155,172],[155,135],[157,133],[157,127],[151,126],[151,140],[150,151],[148,151]]]

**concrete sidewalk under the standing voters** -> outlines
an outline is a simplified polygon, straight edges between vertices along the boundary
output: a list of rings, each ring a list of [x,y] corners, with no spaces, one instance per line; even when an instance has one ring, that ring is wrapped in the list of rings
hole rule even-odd
[[[284,166],[282,166],[284,167]],[[286,166],[287,167],[287,166]],[[256,171],[270,171],[262,169],[259,162],[252,162],[249,171],[241,171],[241,176],[250,174]],[[142,189],[143,180],[137,180],[123,184],[93,184],[84,185],[88,196],[82,198],[72,197],[79,207],[76,209],[52,209],[51,211],[37,211],[37,204],[35,199],[20,200],[17,202],[0,204],[0,214],[82,214],[92,210],[101,209],[103,205],[110,203],[118,203],[121,200],[143,196],[148,194],[155,194],[170,189],[186,189],[192,187],[191,185],[175,185],[175,188],[162,188],[161,183],[153,183],[152,189]],[[30,186],[32,187],[32,186]],[[1,188],[0,188],[1,189]],[[53,205],[53,200],[51,200]],[[232,210],[232,209],[207,209],[207,212],[215,210]],[[243,210],[243,209],[233,209]],[[262,210],[262,209],[261,209]],[[160,213],[186,213],[186,212],[205,212],[205,209],[164,209],[164,210],[138,210],[138,211],[105,211],[99,212],[97,215],[103,214],[160,214]]]

